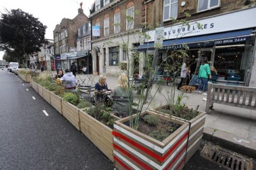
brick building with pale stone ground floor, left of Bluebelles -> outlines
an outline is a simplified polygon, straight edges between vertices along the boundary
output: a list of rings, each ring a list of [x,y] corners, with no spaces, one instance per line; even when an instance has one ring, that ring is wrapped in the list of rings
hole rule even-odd
[[[131,49],[140,42],[138,32],[142,30],[141,23],[144,20],[137,11],[144,10],[143,2],[125,0],[94,2],[90,10],[90,19],[93,26],[100,27],[99,35],[96,35],[97,37],[92,35],[94,74],[105,73],[115,76],[120,72],[120,65],[127,67],[127,57],[132,55]],[[131,69],[134,69],[132,57],[130,65]]]

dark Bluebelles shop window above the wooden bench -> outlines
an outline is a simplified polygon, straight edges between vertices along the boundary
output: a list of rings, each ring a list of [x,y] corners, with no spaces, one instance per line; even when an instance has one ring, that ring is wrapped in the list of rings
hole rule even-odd
[[[218,72],[218,80],[238,78],[244,81],[247,56],[244,47],[221,48],[215,50],[214,67]]]

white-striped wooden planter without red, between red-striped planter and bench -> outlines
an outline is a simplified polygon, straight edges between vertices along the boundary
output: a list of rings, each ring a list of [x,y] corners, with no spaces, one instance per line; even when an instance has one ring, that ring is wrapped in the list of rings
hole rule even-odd
[[[162,106],[159,108],[165,108],[166,106]],[[159,109],[156,108],[156,109]],[[156,110],[151,110],[153,112],[156,113],[161,113],[161,114],[165,114]],[[188,160],[195,154],[195,152],[199,149],[200,147],[200,143],[202,141],[202,137],[203,137],[203,132],[204,132],[204,123],[205,123],[205,117],[206,114],[205,112],[201,112],[199,111],[199,115],[197,115],[195,118],[193,118],[192,120],[188,121],[188,120],[184,120],[180,117],[175,117],[172,116],[172,118],[174,119],[178,119],[181,121],[185,121],[189,123],[189,138],[188,138],[188,149],[187,149],[187,155],[186,155],[186,163],[188,162]],[[167,115],[167,114],[165,114]],[[170,115],[168,115],[170,116]]]

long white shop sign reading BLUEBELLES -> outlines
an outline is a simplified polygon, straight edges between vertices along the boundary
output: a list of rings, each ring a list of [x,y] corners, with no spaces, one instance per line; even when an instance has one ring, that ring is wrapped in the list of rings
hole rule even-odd
[[[202,20],[194,20],[189,22],[189,26],[175,24],[164,28],[164,39],[176,39],[245,28],[254,28],[256,27],[256,22],[252,21],[255,20],[255,16],[256,8],[253,7],[247,10],[231,12]],[[239,23],[237,23],[237,21],[239,21]],[[201,27],[198,27],[199,24]],[[145,41],[154,41],[155,30],[147,31],[146,33],[150,36],[150,39]]]

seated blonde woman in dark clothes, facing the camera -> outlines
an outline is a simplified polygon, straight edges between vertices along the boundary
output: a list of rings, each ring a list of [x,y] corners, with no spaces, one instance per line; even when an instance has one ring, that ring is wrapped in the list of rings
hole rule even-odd
[[[110,99],[108,98],[106,92],[111,91],[108,89],[106,83],[106,75],[101,74],[99,77],[99,82],[95,84],[95,96],[96,100],[105,103],[107,106],[110,105]]]

